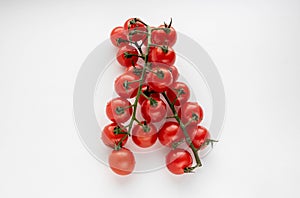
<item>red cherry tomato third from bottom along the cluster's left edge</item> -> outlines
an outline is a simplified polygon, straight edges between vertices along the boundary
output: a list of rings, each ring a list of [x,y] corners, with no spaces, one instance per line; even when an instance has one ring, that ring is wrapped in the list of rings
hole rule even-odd
[[[123,98],[114,98],[106,105],[107,117],[116,123],[124,123],[129,120],[132,114],[132,107],[128,100]]]

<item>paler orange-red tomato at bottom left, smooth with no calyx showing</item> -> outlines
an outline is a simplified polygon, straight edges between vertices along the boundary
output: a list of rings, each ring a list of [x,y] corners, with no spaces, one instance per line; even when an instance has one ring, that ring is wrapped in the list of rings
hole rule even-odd
[[[129,175],[135,167],[133,153],[127,148],[113,150],[108,159],[109,166],[118,175]]]

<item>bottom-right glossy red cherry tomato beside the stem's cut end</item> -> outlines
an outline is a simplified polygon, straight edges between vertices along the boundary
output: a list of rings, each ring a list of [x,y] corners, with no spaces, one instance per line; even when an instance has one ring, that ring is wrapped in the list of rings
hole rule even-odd
[[[184,169],[191,167],[193,164],[193,158],[191,154],[184,149],[176,148],[171,150],[166,156],[166,165],[168,170],[176,175],[184,173]]]

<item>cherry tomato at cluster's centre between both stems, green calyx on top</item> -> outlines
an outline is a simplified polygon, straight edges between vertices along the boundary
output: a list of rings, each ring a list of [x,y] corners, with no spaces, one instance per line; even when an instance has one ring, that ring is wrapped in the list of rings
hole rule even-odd
[[[145,100],[141,106],[141,114],[147,123],[160,122],[166,113],[166,104],[160,98],[151,97],[151,100]]]

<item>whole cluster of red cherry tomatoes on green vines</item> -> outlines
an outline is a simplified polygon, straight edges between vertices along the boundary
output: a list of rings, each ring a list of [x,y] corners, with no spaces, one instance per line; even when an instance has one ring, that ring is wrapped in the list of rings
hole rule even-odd
[[[134,154],[126,148],[129,137],[141,148],[151,147],[157,139],[170,147],[166,166],[174,174],[201,166],[198,151],[212,141],[207,129],[199,125],[202,108],[189,101],[189,87],[177,81],[172,49],[177,35],[171,23],[150,27],[130,18],[111,32],[111,42],[118,47],[116,59],[124,73],[114,82],[118,97],[106,106],[112,123],[104,127],[102,141],[113,148],[109,165],[119,175],[130,174],[135,167]],[[183,144],[186,146],[180,147]],[[194,166],[189,150],[194,154]]]

